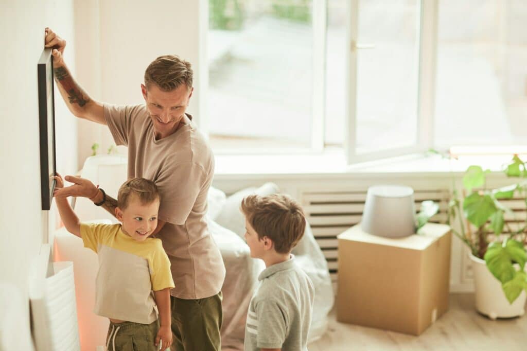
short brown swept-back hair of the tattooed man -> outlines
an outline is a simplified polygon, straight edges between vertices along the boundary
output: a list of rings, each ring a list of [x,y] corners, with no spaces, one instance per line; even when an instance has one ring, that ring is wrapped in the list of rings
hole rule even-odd
[[[144,72],[144,85],[150,87],[152,83],[162,91],[178,89],[181,84],[192,88],[192,66],[190,62],[182,60],[176,55],[163,55],[156,58]]]

